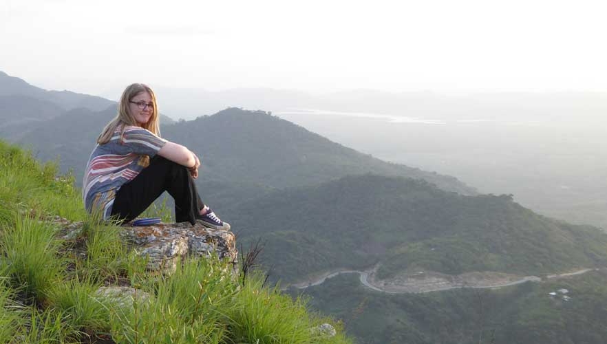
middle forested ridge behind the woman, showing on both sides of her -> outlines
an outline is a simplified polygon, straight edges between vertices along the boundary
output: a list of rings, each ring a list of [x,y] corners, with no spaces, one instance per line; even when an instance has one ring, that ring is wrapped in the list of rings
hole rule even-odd
[[[32,147],[43,160],[60,155],[64,171],[73,169],[79,181],[98,133],[115,114],[116,107],[73,109],[35,125],[0,128],[0,136]],[[448,191],[475,193],[456,178],[383,162],[263,111],[230,108],[213,116],[162,125],[161,131],[164,138],[184,144],[202,157],[198,182],[213,204],[362,173],[423,178]]]

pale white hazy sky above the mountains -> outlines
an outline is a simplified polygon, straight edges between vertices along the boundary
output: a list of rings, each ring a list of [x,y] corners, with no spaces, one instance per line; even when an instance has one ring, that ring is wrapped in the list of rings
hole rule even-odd
[[[0,0],[0,70],[100,94],[607,91],[605,1]]]

